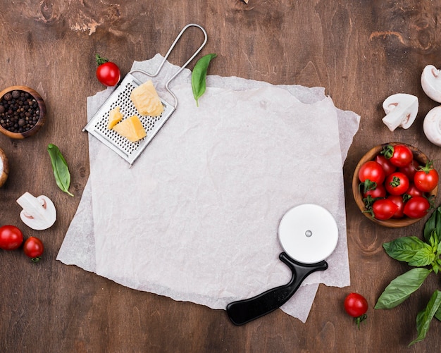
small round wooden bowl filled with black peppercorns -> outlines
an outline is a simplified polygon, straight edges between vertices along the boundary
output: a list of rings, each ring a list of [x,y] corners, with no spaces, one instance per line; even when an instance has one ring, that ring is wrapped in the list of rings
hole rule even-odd
[[[46,105],[34,89],[11,86],[0,92],[0,132],[11,139],[34,135],[46,120]]]

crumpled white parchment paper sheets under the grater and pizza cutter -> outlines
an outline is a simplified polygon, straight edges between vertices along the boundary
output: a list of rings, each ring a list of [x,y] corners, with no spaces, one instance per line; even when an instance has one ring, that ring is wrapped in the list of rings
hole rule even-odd
[[[154,72],[161,60],[133,68]],[[177,69],[167,62],[153,79],[166,100],[164,82]],[[219,76],[207,77],[197,107],[190,75],[170,84],[178,108],[132,168],[89,137],[89,180],[57,259],[225,309],[287,283],[280,218],[320,204],[339,225],[337,248],[328,270],[312,273],[281,308],[305,322],[319,283],[349,285],[342,163],[359,116],[336,109],[321,88]],[[111,92],[89,97],[88,118]]]

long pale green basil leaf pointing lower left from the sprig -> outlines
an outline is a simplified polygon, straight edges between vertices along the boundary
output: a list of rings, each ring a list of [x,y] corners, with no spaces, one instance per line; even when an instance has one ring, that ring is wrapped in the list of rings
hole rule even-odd
[[[416,292],[423,284],[431,270],[427,268],[412,268],[392,280],[378,298],[375,309],[392,309],[401,304]]]

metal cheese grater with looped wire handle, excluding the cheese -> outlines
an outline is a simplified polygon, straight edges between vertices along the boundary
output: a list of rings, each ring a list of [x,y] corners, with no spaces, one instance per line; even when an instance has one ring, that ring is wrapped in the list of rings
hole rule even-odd
[[[198,27],[204,33],[204,42],[197,49],[197,51],[194,52],[192,57],[189,58],[187,62],[170,78],[170,80],[166,82],[165,87],[170,93],[171,97],[173,97],[173,104],[170,104],[161,98],[161,102],[164,106],[161,116],[140,115],[133,105],[132,100],[130,99],[130,93],[133,89],[135,89],[135,87],[141,85],[142,82],[135,78],[133,73],[142,73],[143,75],[147,75],[149,78],[154,78],[156,75],[158,75],[164,63],[166,63],[170,52],[175,47],[175,44],[178,43],[180,37],[185,32],[185,30],[187,30],[188,27]],[[113,91],[111,96],[108,97],[101,108],[97,111],[97,113],[95,113],[89,123],[87,123],[85,128],[83,128],[82,130],[87,130],[91,135],[97,137],[99,141],[115,151],[123,159],[128,161],[128,163],[130,163],[130,166],[132,166],[138,156],[147,147],[147,144],[149,144],[149,142],[153,140],[156,133],[159,131],[159,129],[161,129],[164,123],[166,123],[167,119],[170,118],[170,116],[173,114],[176,107],[178,106],[178,99],[176,98],[175,94],[173,94],[173,92],[170,90],[168,85],[176,76],[178,76],[182,72],[182,70],[184,70],[184,68],[187,67],[190,61],[193,60],[194,56],[197,56],[199,51],[201,51],[201,49],[205,46],[207,39],[207,34],[203,27],[193,23],[186,25],[184,28],[182,28],[178,37],[176,37],[175,41],[171,44],[170,49],[168,49],[167,54],[163,58],[163,61],[159,65],[159,68],[156,70],[156,73],[150,74],[144,70],[138,69],[131,70],[127,75],[125,75],[125,78],[121,81],[120,85],[115,89],[115,91]],[[130,142],[125,137],[119,135],[118,132],[114,130],[109,130],[107,128],[109,112],[117,106],[120,107],[120,112],[123,113],[123,116],[125,118],[133,115],[138,116],[139,120],[141,120],[141,123],[144,126],[144,129],[147,132],[146,137],[137,142]]]

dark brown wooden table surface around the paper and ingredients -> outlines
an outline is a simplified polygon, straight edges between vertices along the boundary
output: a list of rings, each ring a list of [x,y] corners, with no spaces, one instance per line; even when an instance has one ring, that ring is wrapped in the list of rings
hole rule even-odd
[[[416,337],[416,314],[439,288],[435,275],[405,304],[373,306],[387,283],[409,269],[392,260],[382,244],[422,235],[423,221],[384,228],[362,216],[352,197],[357,161],[376,144],[406,142],[441,167],[440,148],[428,142],[423,118],[434,106],[421,89],[428,64],[440,66],[441,1],[345,0],[109,0],[0,1],[0,87],[27,85],[47,106],[47,122],[35,136],[0,136],[11,173],[0,188],[0,225],[18,225],[41,237],[44,259],[0,254],[1,352],[437,352],[441,323],[426,340]],[[225,311],[175,302],[123,287],[76,266],[56,261],[89,177],[86,99],[104,89],[95,78],[94,55],[120,66],[165,54],[187,23],[206,28],[199,54],[217,53],[210,74],[273,84],[325,87],[340,109],[361,116],[344,164],[350,287],[319,287],[306,323],[277,310],[244,326]],[[170,61],[182,63],[191,46],[178,46]],[[190,64],[192,68],[194,62]],[[418,97],[409,130],[390,132],[381,119],[383,100],[395,93]],[[63,151],[72,175],[69,197],[56,187],[46,146]],[[319,148],[319,147],[318,147]],[[46,194],[58,205],[56,224],[30,230],[15,200],[24,192]],[[356,329],[344,313],[344,297],[360,292],[370,304]]]

